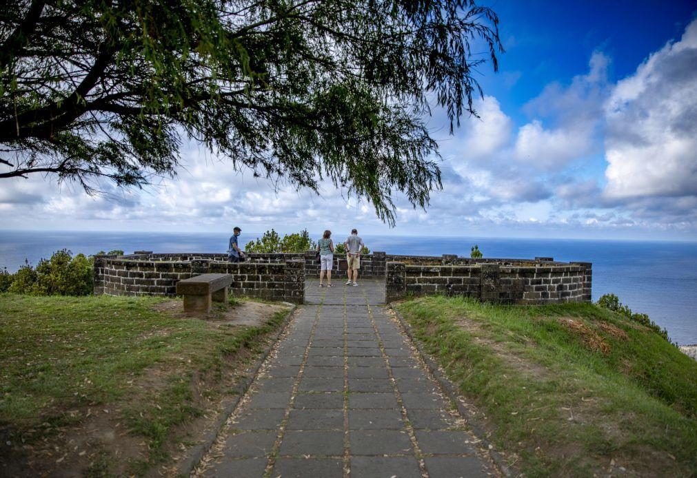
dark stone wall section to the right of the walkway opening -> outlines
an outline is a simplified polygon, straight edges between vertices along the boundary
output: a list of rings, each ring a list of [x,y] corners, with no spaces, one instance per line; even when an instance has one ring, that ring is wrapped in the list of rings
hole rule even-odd
[[[469,259],[387,256],[388,302],[405,295],[463,295],[503,304],[590,302],[592,264],[549,257]]]

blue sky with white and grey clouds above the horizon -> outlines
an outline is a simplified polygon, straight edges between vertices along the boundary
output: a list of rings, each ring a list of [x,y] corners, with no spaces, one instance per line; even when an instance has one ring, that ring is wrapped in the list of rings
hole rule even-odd
[[[91,198],[3,180],[3,229],[248,231],[697,240],[694,1],[492,1],[506,53],[480,68],[480,119],[439,139],[444,188],[397,226],[326,185],[274,191],[193,144],[173,181]]]

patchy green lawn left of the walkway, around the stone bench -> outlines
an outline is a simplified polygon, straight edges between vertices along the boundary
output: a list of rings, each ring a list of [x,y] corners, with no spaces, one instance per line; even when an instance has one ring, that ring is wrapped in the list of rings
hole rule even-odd
[[[148,440],[148,458],[130,466],[145,472],[166,458],[174,428],[201,415],[194,394],[215,399],[215,387],[194,390],[194,382],[219,381],[228,357],[257,346],[284,317],[211,327],[153,310],[158,302],[0,294],[0,431],[31,444],[84,421],[85,410],[116,408]]]

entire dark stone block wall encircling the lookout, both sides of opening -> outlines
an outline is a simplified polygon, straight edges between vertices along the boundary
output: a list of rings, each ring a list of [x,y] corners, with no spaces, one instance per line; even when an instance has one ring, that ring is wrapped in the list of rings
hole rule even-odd
[[[346,259],[335,256],[335,277]],[[177,294],[176,284],[201,274],[232,276],[229,293],[302,304],[305,278],[318,277],[314,251],[249,254],[243,263],[229,263],[226,254],[154,254],[96,256],[95,295]],[[360,277],[384,281],[387,302],[406,295],[462,295],[500,304],[590,302],[592,264],[535,259],[470,259],[452,254],[408,256],[374,252],[361,257]]]

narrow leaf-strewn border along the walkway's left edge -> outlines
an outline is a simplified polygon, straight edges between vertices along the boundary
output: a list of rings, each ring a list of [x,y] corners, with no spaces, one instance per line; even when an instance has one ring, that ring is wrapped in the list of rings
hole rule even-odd
[[[213,445],[213,442],[215,442],[215,438],[217,438],[218,433],[220,433],[220,429],[222,429],[222,426],[225,424],[225,422],[227,422],[227,419],[229,418],[231,413],[233,413],[238,403],[240,403],[240,400],[242,400],[243,396],[245,396],[247,389],[250,387],[250,385],[252,385],[252,382],[256,378],[256,375],[259,373],[259,368],[261,367],[261,364],[263,364],[264,360],[266,360],[266,357],[268,357],[268,354],[270,353],[271,349],[275,346],[276,342],[278,341],[278,338],[281,336],[284,330],[286,330],[286,327],[291,321],[291,316],[293,316],[293,312],[297,309],[297,306],[295,304],[291,305],[292,307],[286,313],[286,316],[283,319],[281,325],[279,325],[278,330],[270,336],[271,340],[269,341],[268,346],[264,348],[261,355],[259,355],[259,357],[256,359],[256,362],[252,367],[254,371],[247,375],[247,377],[243,380],[240,380],[240,383],[236,384],[235,387],[233,387],[233,390],[236,392],[234,398],[224,401],[222,411],[215,418],[213,426],[211,426],[210,429],[208,429],[208,431],[204,433],[203,440],[198,445],[195,445],[194,447],[189,449],[187,454],[181,459],[181,462],[177,466],[178,476],[189,477],[191,475],[191,472],[201,461],[201,458],[204,457],[204,455],[208,452],[208,449],[210,449],[211,445]]]

